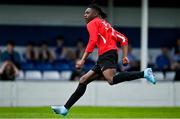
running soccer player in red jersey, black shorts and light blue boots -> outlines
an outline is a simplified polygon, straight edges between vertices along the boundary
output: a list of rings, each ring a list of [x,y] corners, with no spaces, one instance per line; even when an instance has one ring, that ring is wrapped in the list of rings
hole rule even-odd
[[[77,61],[76,68],[81,69],[83,67],[95,46],[98,48],[98,61],[89,72],[80,78],[77,89],[65,105],[51,106],[56,114],[67,115],[72,105],[78,101],[86,91],[88,83],[93,81],[93,77],[97,74],[103,75],[110,85],[139,78],[146,78],[149,82],[153,84],[156,83],[151,68],[147,68],[141,72],[116,72],[116,66],[118,64],[118,47],[116,44],[117,42],[121,44],[123,52],[122,64],[127,65],[129,63],[127,58],[128,39],[113,29],[111,25],[104,20],[106,17],[107,15],[96,4],[89,5],[85,10],[84,19],[89,32],[89,42],[82,58]]]

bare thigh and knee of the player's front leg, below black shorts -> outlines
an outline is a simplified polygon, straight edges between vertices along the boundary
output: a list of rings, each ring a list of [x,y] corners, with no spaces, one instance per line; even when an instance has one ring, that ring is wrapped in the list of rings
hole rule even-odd
[[[80,80],[79,83],[88,84],[91,81],[94,80],[93,77],[95,77],[97,74],[93,70],[89,70],[86,74],[84,74]]]

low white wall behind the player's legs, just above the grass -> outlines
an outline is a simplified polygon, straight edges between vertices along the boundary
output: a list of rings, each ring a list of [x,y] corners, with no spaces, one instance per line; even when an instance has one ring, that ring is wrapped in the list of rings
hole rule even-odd
[[[0,82],[0,106],[61,105],[74,92],[78,82]],[[91,83],[76,105],[91,106],[180,106],[180,83],[140,81],[110,86]]]

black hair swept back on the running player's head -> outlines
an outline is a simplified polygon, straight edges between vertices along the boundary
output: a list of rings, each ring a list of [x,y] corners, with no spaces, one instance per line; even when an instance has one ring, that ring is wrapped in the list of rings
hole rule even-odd
[[[92,3],[89,5],[89,8],[95,9],[99,13],[101,18],[103,18],[103,19],[107,18],[107,14],[102,11],[101,7],[98,4]]]

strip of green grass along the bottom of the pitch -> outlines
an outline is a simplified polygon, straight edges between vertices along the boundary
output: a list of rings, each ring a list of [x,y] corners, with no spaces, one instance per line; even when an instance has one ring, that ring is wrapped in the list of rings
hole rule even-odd
[[[66,117],[50,107],[0,107],[0,118],[180,118],[180,107],[73,107]]]

